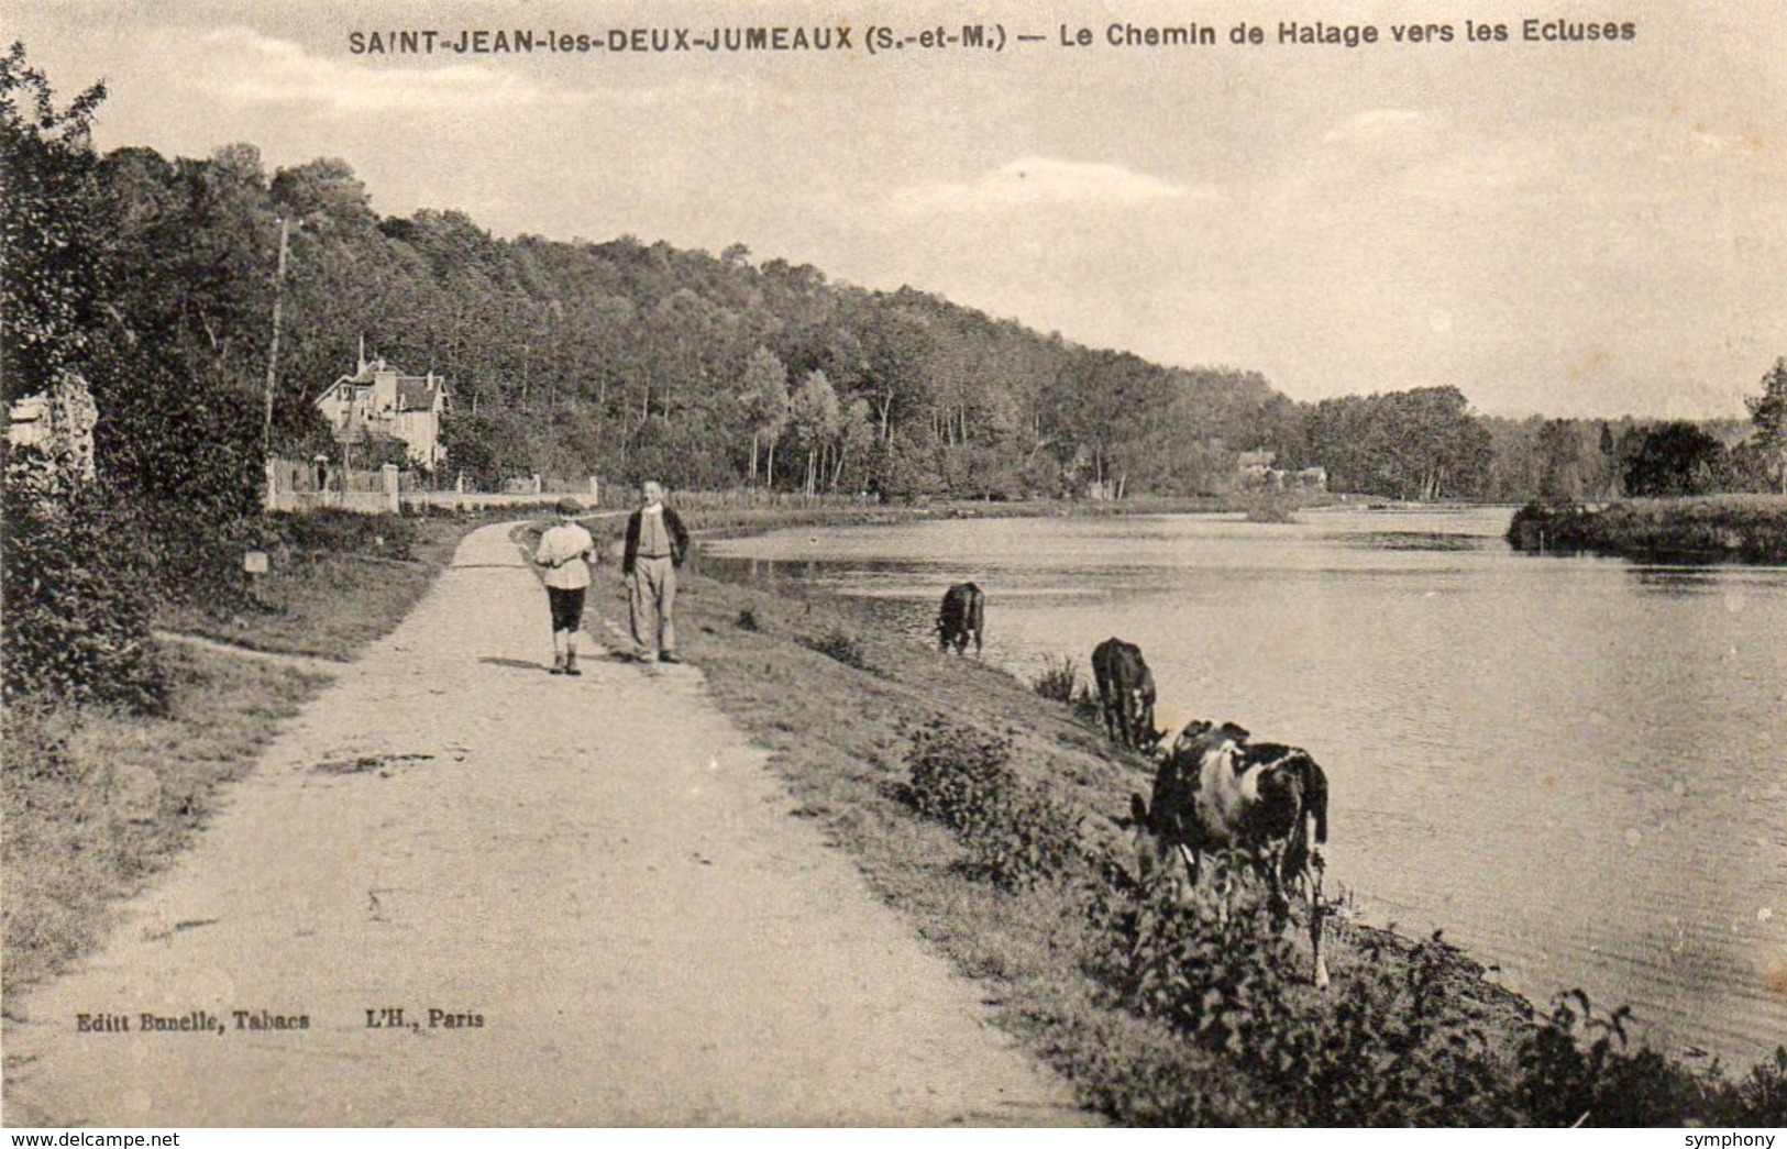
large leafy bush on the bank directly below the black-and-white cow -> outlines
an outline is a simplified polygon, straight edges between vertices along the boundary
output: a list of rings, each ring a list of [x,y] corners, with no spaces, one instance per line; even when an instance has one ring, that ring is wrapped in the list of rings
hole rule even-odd
[[[1231,1060],[1324,1126],[1510,1124],[1505,1069],[1467,1013],[1469,967],[1439,935],[1410,954],[1367,935],[1356,972],[1308,986],[1308,956],[1246,854],[1144,883],[1112,872],[1090,904],[1086,970],[1117,1002]]]

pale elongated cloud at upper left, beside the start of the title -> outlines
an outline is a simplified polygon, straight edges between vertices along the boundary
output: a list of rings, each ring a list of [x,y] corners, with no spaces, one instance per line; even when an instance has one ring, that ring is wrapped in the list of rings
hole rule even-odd
[[[236,105],[309,105],[352,116],[513,109],[545,98],[524,77],[479,64],[381,68],[334,61],[243,27],[206,32],[202,41],[209,66],[191,84]]]

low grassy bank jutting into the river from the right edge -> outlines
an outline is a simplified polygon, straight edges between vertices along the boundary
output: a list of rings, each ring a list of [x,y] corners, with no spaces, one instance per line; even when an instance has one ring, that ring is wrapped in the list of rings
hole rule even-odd
[[[1787,563],[1787,495],[1626,499],[1605,507],[1533,502],[1515,513],[1508,541],[1530,552]]]

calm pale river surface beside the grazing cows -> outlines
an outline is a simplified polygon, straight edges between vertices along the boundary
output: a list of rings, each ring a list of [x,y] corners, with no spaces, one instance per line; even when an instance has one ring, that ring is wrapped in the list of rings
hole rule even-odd
[[[1330,888],[1367,918],[1444,927],[1539,1004],[1581,986],[1653,1044],[1748,1065],[1787,1042],[1787,570],[1519,556],[1506,522],[947,520],[704,556],[877,599],[915,638],[974,579],[986,658],[1026,681],[1137,642],[1162,724],[1315,754]]]

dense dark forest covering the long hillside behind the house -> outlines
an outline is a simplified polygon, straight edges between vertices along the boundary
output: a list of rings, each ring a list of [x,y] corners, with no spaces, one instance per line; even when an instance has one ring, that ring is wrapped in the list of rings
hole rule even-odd
[[[268,173],[247,143],[100,155],[102,89],[57,109],[20,46],[0,80],[5,397],[79,373],[107,481],[152,502],[247,506],[268,447],[327,450],[313,402],[361,347],[449,379],[441,484],[1197,495],[1228,490],[1251,450],[1399,499],[1767,490],[1776,474],[1741,422],[1485,418],[1449,384],[1301,404],[1258,372],[1079,347],[736,245],[379,216],[340,159]]]

